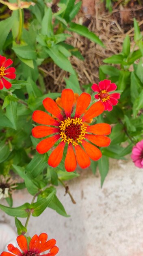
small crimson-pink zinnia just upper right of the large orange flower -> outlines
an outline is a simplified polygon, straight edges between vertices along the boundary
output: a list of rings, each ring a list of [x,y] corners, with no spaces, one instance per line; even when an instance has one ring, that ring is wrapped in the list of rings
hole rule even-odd
[[[111,80],[105,79],[100,81],[99,85],[97,83],[93,83],[91,88],[94,92],[98,92],[98,94],[95,94],[95,99],[100,99],[100,101],[104,104],[105,110],[111,111],[113,106],[117,105],[117,99],[120,98],[120,94],[109,94],[109,92],[117,89],[117,85],[115,85],[115,83],[111,83]]]

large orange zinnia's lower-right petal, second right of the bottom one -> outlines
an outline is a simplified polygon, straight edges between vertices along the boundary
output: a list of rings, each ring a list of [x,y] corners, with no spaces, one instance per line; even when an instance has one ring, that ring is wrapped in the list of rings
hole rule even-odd
[[[82,146],[85,148],[85,151],[87,152],[87,155],[94,161],[97,161],[102,157],[102,153],[99,150],[99,148],[95,147],[91,143],[82,140]]]

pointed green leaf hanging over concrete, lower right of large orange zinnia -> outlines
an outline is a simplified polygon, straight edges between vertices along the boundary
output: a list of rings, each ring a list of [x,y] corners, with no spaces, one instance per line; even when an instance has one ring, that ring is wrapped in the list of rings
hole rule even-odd
[[[106,178],[106,175],[109,171],[108,157],[106,157],[105,155],[102,155],[102,157],[98,160],[98,167],[99,167],[99,172],[101,176],[101,187],[102,187],[104,180]]]

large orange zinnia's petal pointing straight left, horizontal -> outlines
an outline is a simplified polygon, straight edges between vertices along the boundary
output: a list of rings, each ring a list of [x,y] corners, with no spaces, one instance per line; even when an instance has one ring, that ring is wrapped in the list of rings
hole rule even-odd
[[[56,132],[59,132],[58,128],[48,126],[36,126],[32,129],[32,136],[35,138],[43,138]]]

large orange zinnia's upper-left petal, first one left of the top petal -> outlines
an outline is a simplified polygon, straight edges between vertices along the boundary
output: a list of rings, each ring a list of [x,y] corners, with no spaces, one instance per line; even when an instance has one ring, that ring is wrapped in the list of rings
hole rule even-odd
[[[43,106],[52,115],[54,115],[55,117],[57,117],[60,120],[63,120],[63,116],[58,108],[58,105],[56,104],[56,102],[53,99],[51,99],[51,98],[44,99]]]

